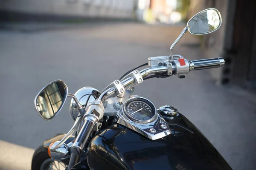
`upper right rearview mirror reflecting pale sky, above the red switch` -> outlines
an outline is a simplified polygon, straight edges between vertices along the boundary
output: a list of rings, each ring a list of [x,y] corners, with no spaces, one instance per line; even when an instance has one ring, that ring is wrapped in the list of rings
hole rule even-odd
[[[187,28],[191,34],[209,34],[216,31],[221,26],[221,14],[215,8],[209,8],[199,12],[192,17]]]

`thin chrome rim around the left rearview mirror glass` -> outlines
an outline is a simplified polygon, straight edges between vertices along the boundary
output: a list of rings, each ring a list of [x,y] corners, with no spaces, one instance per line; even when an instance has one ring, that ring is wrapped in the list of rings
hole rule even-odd
[[[67,88],[67,85],[66,83],[64,83],[61,79],[57,79],[53,82],[50,82],[49,84],[45,85],[44,88],[41,89],[41,91],[39,91],[39,93],[35,96],[35,99],[34,99],[34,105],[35,105],[35,110],[37,111],[37,113],[40,115],[41,118],[43,118],[44,120],[50,120],[50,119],[45,119],[44,116],[42,116],[39,111],[37,110],[37,106],[36,106],[36,100],[38,98],[38,96],[41,94],[41,92],[49,85],[55,83],[55,82],[62,82],[65,89],[66,89],[66,92],[65,92],[65,96],[64,96],[64,100],[61,104],[61,107],[58,109],[58,111],[50,118],[50,119],[53,119],[60,111],[61,111],[61,108],[63,107],[64,103],[66,102],[66,99],[67,99],[67,95],[68,95],[68,88]]]

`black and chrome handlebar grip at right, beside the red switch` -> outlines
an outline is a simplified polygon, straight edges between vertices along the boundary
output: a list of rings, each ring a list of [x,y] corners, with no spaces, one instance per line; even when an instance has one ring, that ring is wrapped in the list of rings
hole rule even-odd
[[[202,70],[208,68],[223,67],[225,60],[223,58],[212,58],[212,59],[199,59],[190,61],[191,70]]]

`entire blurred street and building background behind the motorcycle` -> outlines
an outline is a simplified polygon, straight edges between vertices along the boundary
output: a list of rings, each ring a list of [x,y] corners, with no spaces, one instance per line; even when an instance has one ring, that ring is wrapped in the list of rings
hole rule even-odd
[[[212,7],[221,28],[187,33],[174,54],[223,57],[225,66],[149,79],[134,94],[177,108],[233,169],[254,170],[254,0],[0,0],[0,169],[30,169],[34,149],[72,127],[70,99],[51,121],[38,116],[33,102],[44,85],[62,79],[73,94],[102,91],[148,57],[169,55],[189,18]]]

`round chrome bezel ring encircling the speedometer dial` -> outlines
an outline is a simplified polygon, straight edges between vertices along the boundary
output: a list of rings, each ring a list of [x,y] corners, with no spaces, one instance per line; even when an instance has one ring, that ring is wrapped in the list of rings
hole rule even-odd
[[[153,106],[152,109],[154,109],[154,116],[153,116],[151,119],[148,119],[148,120],[145,120],[145,121],[139,120],[139,119],[135,119],[134,117],[132,117],[132,116],[130,115],[130,113],[126,110],[126,107],[128,106],[128,104],[129,104],[129,103],[131,102],[131,100],[133,100],[133,99],[138,99],[138,100],[144,99],[144,100],[150,102],[151,105]],[[136,101],[136,100],[134,100],[134,101]],[[126,116],[129,117],[129,119],[132,119],[134,122],[138,122],[138,123],[149,123],[149,122],[152,122],[152,121],[153,121],[154,119],[156,119],[156,117],[157,117],[157,108],[155,107],[154,103],[151,102],[150,100],[144,98],[144,97],[139,97],[139,96],[131,97],[130,99],[128,99],[128,100],[125,101],[125,103],[123,104],[122,109],[123,109],[124,113],[126,114]]]

